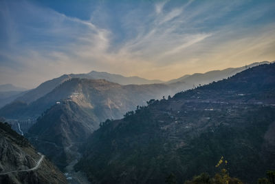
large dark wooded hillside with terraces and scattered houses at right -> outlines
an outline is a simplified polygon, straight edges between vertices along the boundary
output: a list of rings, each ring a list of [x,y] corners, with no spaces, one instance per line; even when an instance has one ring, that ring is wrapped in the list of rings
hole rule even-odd
[[[149,101],[106,121],[83,147],[76,170],[92,183],[182,183],[214,174],[224,156],[231,176],[252,183],[275,168],[275,64]]]

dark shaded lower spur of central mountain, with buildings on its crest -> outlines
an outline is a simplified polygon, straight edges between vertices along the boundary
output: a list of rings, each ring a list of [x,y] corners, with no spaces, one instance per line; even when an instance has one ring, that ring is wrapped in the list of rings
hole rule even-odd
[[[98,129],[98,119],[74,101],[63,101],[39,117],[26,135],[31,143],[59,167],[78,156],[78,145]]]

